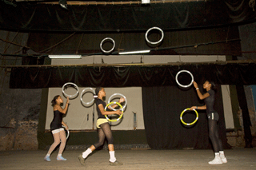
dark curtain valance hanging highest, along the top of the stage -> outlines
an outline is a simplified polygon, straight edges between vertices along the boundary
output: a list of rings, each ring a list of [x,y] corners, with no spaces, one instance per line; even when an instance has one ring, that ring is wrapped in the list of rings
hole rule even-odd
[[[254,22],[249,0],[122,6],[69,6],[0,1],[0,29],[27,31],[131,31],[194,29]],[[159,19],[161,18],[161,19]]]

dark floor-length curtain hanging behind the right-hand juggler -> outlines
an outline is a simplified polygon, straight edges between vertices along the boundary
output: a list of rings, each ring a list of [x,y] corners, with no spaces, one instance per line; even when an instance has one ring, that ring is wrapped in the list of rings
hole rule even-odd
[[[200,86],[202,91],[202,87]],[[215,110],[219,113],[218,128],[224,148],[226,127],[222,105],[222,91],[218,85]],[[153,149],[210,148],[206,110],[198,110],[198,121],[191,126],[183,125],[180,114],[193,105],[204,105],[199,101],[194,88],[179,89],[178,86],[142,88],[142,105],[147,142]],[[184,113],[183,120],[192,122],[194,111]]]

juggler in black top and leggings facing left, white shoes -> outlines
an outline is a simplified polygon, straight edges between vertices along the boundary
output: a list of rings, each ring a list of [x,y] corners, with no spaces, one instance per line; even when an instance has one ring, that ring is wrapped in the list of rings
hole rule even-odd
[[[209,164],[222,164],[226,163],[226,157],[223,152],[222,140],[218,135],[218,113],[214,111],[214,101],[215,101],[215,84],[212,81],[205,81],[203,84],[203,89],[206,89],[206,93],[202,94],[198,88],[198,84],[194,81],[194,88],[198,93],[198,97],[204,100],[205,105],[203,106],[192,106],[192,109],[206,109],[208,117],[209,126],[209,137],[211,143],[213,144],[215,158],[211,160]]]

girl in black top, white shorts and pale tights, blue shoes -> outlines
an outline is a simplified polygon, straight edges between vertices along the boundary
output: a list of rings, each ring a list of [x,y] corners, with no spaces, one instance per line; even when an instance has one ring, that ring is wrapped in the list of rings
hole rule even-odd
[[[63,103],[62,97],[55,96],[54,99],[51,101],[52,105],[54,106],[54,119],[50,123],[50,131],[53,133],[54,136],[54,143],[51,144],[49,151],[47,152],[44,160],[50,161],[50,154],[54,151],[54,148],[58,146],[58,144],[61,143],[59,150],[58,150],[58,156],[57,160],[66,160],[62,157],[62,152],[66,146],[66,132],[64,128],[68,129],[67,125],[62,121],[63,114],[66,114],[66,110],[69,106],[69,97],[67,97],[65,108],[62,109],[61,104]]]

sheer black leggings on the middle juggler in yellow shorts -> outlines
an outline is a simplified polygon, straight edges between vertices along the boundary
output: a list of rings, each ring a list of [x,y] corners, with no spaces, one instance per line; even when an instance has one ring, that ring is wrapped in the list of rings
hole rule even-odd
[[[110,128],[109,123],[104,123],[100,125],[101,128],[98,129],[98,142],[94,144],[95,148],[100,147],[102,144],[104,144],[105,137],[107,139],[108,144],[113,144],[113,136]]]

